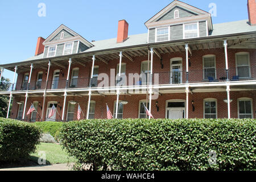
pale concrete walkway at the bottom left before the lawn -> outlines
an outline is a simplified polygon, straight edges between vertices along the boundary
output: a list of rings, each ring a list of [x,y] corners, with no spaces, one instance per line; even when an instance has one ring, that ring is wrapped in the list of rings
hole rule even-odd
[[[5,168],[0,169],[0,171],[70,171],[71,166],[68,164],[53,164],[44,166],[34,166],[34,167],[19,167],[19,168]]]

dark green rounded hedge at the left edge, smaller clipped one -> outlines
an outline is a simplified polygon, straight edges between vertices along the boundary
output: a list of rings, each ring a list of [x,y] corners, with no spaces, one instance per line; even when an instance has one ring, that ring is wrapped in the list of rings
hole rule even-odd
[[[0,161],[27,158],[39,144],[40,129],[32,123],[0,118]]]

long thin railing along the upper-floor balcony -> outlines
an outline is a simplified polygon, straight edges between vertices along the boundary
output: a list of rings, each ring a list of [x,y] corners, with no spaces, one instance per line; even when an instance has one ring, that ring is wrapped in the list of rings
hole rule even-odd
[[[157,78],[158,76],[158,78]],[[146,80],[145,80],[146,79]],[[150,77],[149,77],[150,79]],[[225,69],[190,69],[188,74],[185,71],[174,71],[174,72],[158,72],[154,73],[152,77],[153,85],[170,85],[170,84],[185,84],[187,81],[189,83],[199,83],[199,82],[225,82],[227,81],[242,81],[242,80],[256,80],[256,67],[237,67],[230,68],[228,72]],[[102,79],[104,80],[104,79]],[[136,80],[136,79],[135,79]],[[108,81],[108,82],[106,82]],[[49,80],[46,81],[36,81],[23,83],[15,83],[10,86],[10,90],[53,90],[53,89],[75,89],[75,88],[89,88],[91,79],[86,78],[72,78],[67,82],[67,80]],[[110,78],[105,79],[105,82],[102,83],[101,80],[97,80],[97,77],[94,77],[92,80],[92,88],[102,87],[102,86],[112,86],[110,85]],[[101,83],[101,84],[100,84]],[[114,82],[114,86],[118,85],[118,81]],[[123,85],[123,84],[121,84]],[[127,76],[126,84],[129,85],[129,77]],[[133,82],[133,85],[129,86],[139,86],[147,85],[147,76],[145,74],[144,80],[142,78],[137,79]]]

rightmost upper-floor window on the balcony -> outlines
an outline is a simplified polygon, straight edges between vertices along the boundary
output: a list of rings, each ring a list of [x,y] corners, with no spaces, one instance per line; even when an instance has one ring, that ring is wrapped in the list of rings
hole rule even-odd
[[[249,53],[237,53],[236,63],[237,63],[237,75],[240,78],[250,77]]]

